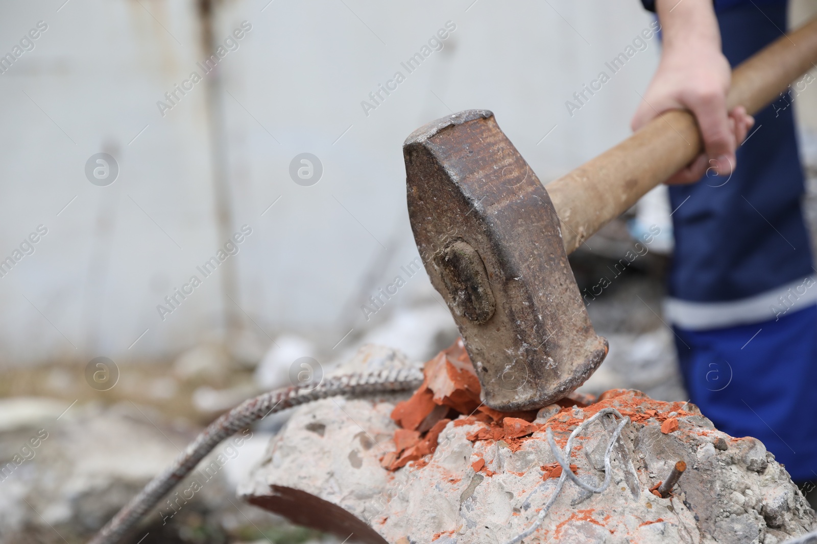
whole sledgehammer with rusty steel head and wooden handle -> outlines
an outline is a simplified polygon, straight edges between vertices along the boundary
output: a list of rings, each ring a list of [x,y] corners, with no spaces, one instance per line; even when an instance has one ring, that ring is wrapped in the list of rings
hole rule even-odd
[[[817,62],[817,20],[732,73],[727,107],[756,113]],[[493,409],[548,405],[601,364],[567,255],[701,153],[693,115],[656,117],[547,191],[488,110],[415,130],[403,147],[408,215]]]

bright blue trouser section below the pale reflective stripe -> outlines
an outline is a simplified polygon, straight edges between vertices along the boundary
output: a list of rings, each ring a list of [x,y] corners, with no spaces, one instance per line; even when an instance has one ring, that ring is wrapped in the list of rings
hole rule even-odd
[[[715,427],[760,439],[794,480],[817,480],[817,307],[757,325],[675,332],[690,399]]]

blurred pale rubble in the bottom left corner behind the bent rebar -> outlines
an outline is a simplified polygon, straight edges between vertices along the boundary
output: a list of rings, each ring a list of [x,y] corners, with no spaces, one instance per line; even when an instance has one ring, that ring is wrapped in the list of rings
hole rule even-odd
[[[0,544],[87,542],[198,431],[145,405],[68,404],[0,402]],[[225,542],[236,528],[265,526],[273,516],[230,502],[243,463],[258,457],[254,440],[243,431],[219,444],[150,511],[132,542],[145,533],[143,544]]]

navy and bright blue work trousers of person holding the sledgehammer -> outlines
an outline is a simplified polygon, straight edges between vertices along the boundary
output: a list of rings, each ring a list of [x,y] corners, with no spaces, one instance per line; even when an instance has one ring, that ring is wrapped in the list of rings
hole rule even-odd
[[[786,6],[743,4],[719,11],[718,22],[734,66],[779,38]],[[670,189],[672,299],[739,304],[815,272],[792,110],[781,99],[757,113],[730,178]],[[817,480],[817,307],[775,320],[764,306],[752,319],[699,325],[675,327],[690,399],[722,431],[762,440],[795,480]]]

